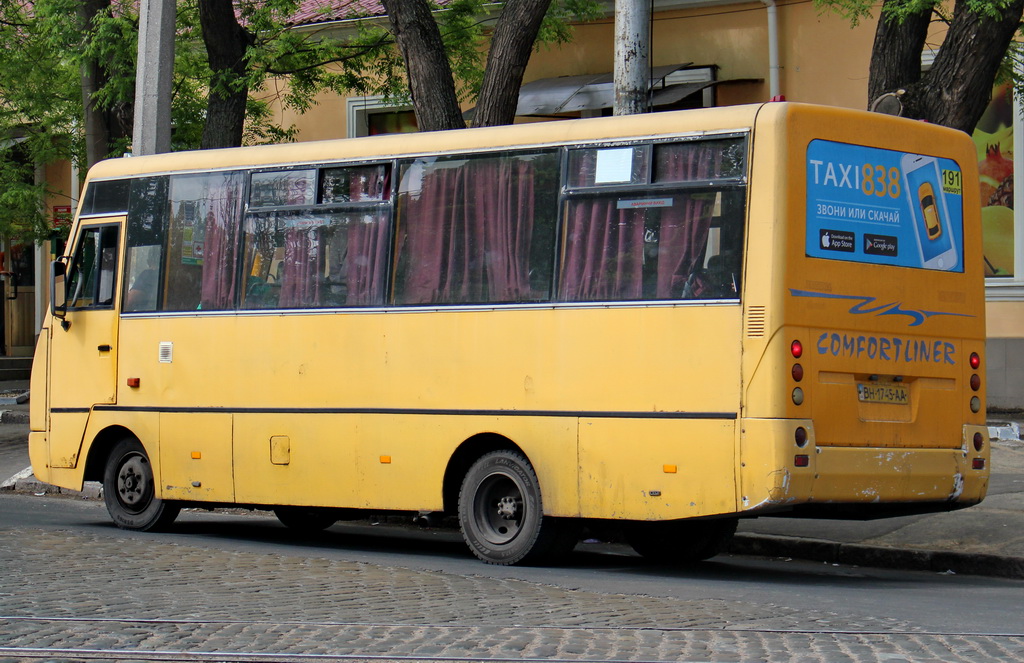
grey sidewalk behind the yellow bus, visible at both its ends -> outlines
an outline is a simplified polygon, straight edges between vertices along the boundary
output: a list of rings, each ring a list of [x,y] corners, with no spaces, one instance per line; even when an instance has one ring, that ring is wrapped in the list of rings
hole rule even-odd
[[[27,402],[10,400],[0,383],[0,490],[75,494],[96,499],[98,484],[74,493],[43,484],[28,464]],[[24,384],[26,390],[28,384]],[[16,398],[15,398],[16,401]],[[878,521],[760,517],[740,521],[732,554],[795,557],[843,564],[1024,578],[1024,417],[989,421],[992,473],[988,496],[958,511]],[[9,478],[9,479],[8,479]]]

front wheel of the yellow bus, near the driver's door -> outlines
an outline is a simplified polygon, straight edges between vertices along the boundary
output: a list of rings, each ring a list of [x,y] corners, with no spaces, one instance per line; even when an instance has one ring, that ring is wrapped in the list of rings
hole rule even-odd
[[[161,530],[181,510],[175,502],[157,499],[150,457],[131,438],[116,444],[106,458],[103,501],[111,520],[123,530]]]

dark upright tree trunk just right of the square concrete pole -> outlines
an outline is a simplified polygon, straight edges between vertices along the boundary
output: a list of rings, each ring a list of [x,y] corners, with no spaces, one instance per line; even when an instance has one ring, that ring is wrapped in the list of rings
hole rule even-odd
[[[239,25],[231,0],[200,0],[200,26],[213,75],[200,147],[237,148],[246,124],[246,49],[253,36]]]

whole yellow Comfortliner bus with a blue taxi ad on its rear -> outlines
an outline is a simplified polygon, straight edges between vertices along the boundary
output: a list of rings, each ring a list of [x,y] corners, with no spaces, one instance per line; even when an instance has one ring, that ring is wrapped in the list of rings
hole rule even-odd
[[[34,470],[132,530],[457,516],[493,564],[976,504],[974,154],[781,102],[100,163]]]

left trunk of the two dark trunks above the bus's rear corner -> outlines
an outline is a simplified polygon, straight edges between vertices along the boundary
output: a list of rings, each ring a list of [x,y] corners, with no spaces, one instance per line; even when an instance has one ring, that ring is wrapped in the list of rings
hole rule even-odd
[[[867,79],[867,108],[886,92],[906,89],[921,80],[921,53],[932,22],[932,7],[926,6],[902,22],[886,15],[888,7],[903,2],[885,0],[879,13]]]

